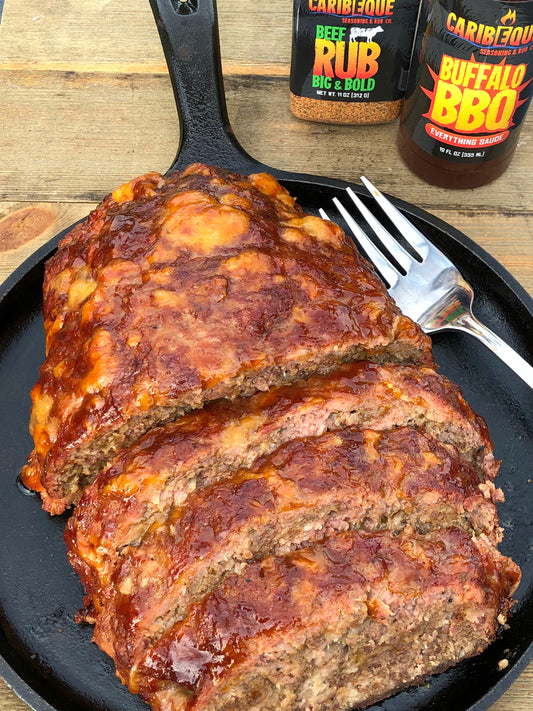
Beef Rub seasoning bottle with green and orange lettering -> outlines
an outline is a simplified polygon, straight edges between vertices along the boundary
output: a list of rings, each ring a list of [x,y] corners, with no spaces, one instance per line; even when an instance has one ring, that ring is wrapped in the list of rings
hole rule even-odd
[[[295,0],[291,110],[344,124],[400,113],[419,0]]]

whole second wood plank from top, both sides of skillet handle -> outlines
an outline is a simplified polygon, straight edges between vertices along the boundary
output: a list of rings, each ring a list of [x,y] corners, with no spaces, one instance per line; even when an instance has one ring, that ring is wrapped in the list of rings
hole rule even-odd
[[[0,104],[0,200],[99,200],[147,170],[165,170],[178,144],[168,75],[5,71]],[[415,178],[400,160],[397,123],[332,126],[289,109],[285,78],[229,76],[228,112],[242,146],[267,165],[357,181],[430,209],[504,210],[531,215],[533,112],[507,172],[476,190],[443,190]],[[38,107],[38,112],[36,112]],[[46,140],[43,140],[43,136]]]

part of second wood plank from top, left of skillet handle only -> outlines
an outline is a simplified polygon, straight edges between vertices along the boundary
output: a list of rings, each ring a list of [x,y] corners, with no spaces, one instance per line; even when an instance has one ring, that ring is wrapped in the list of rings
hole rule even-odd
[[[0,105],[0,200],[99,200],[178,145],[166,75],[4,72]]]

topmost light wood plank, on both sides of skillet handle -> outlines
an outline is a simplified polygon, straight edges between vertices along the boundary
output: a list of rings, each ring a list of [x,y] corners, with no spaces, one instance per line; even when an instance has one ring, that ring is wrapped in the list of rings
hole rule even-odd
[[[287,0],[218,0],[222,59],[253,67],[268,64],[286,73],[290,63],[292,3]],[[6,0],[2,63],[31,60],[102,65],[164,66],[163,52],[148,0],[73,0],[35,3]],[[260,41],[258,41],[260,40]]]

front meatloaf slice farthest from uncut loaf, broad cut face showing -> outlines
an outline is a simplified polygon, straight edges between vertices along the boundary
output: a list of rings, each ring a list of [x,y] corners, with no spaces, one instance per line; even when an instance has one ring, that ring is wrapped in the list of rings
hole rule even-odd
[[[360,708],[481,652],[519,577],[457,529],[335,534],[228,578],[119,675],[160,711]]]

